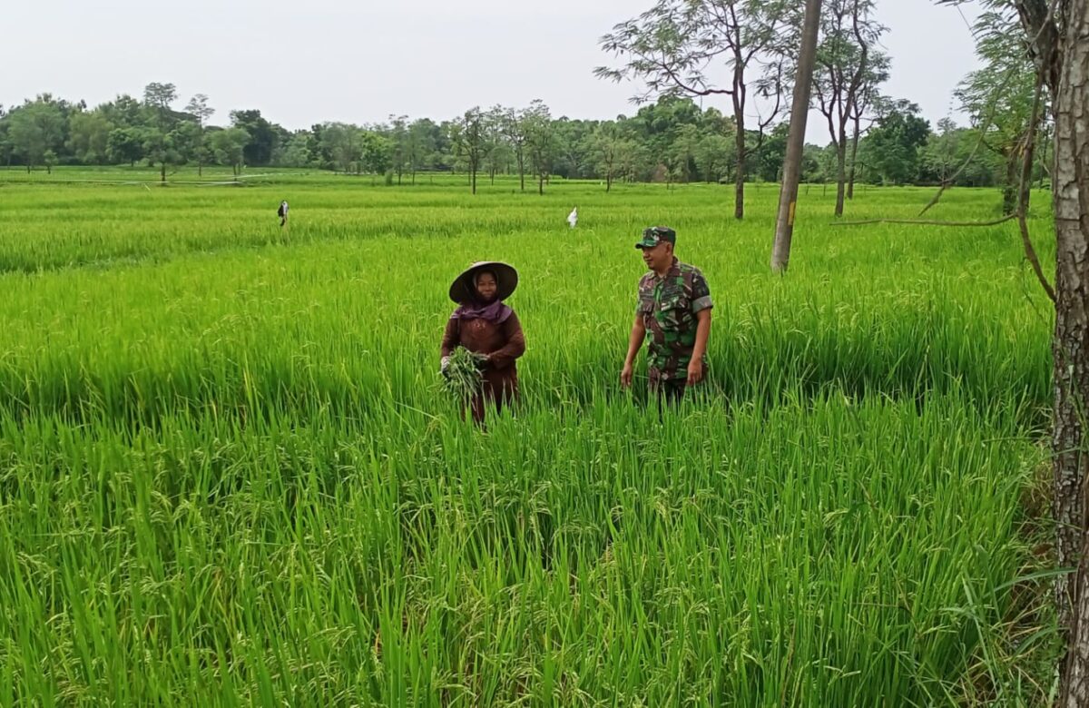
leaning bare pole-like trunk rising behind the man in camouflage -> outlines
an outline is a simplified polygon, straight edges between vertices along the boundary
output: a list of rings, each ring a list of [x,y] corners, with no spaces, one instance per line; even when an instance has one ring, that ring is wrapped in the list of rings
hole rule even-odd
[[[794,235],[794,208],[798,199],[798,178],[806,143],[806,119],[809,117],[809,93],[812,87],[813,60],[817,56],[817,30],[820,28],[821,0],[806,0],[806,20],[802,29],[802,52],[794,82],[794,103],[791,108],[791,130],[786,138],[783,162],[783,186],[779,193],[779,218],[775,242],[771,248],[772,272],[785,272],[791,260],[791,239]]]

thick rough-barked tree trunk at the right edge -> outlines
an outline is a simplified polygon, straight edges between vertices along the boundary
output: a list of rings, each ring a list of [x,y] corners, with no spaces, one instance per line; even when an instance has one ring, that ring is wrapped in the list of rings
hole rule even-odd
[[[1089,0],[1070,0],[1060,38],[1055,91],[1055,412],[1052,432],[1059,563],[1077,567],[1056,583],[1059,617],[1068,627],[1063,667],[1064,708],[1089,705],[1089,454],[1085,439],[1089,401]]]

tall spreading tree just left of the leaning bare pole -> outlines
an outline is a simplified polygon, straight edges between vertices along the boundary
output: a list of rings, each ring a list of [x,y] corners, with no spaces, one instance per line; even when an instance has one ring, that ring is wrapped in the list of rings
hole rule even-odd
[[[749,84],[757,64],[774,68],[781,76],[781,38],[793,25],[794,2],[786,0],[659,0],[634,20],[613,27],[601,38],[601,47],[622,58],[619,69],[600,66],[598,76],[623,81],[643,80],[647,86],[636,101],[656,95],[730,96],[737,126],[737,173],[734,183],[734,216],[745,216],[745,124]],[[718,66],[729,72],[730,84],[711,78]],[[760,130],[779,112],[781,82],[768,84],[775,108],[761,120]]]

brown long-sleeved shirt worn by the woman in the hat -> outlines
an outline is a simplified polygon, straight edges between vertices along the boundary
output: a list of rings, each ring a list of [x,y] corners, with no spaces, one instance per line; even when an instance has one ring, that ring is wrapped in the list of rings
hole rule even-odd
[[[450,356],[458,344],[470,352],[489,355],[488,366],[482,371],[486,394],[517,392],[515,359],[526,351],[526,338],[517,315],[511,313],[501,325],[479,318],[451,318],[442,333],[442,356]]]

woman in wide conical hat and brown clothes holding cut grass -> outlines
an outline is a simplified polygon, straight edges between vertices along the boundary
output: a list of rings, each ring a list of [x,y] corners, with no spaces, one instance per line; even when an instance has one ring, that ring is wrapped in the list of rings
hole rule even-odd
[[[482,387],[469,401],[478,424],[484,424],[486,404],[494,404],[498,411],[518,394],[515,359],[526,351],[526,339],[518,316],[503,303],[517,284],[514,268],[486,260],[469,266],[450,285],[450,300],[458,307],[442,334],[442,368],[458,345],[482,355]]]

